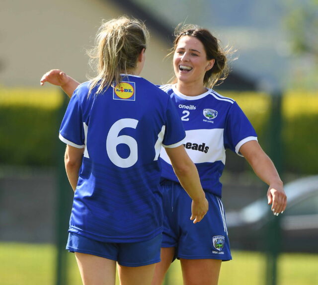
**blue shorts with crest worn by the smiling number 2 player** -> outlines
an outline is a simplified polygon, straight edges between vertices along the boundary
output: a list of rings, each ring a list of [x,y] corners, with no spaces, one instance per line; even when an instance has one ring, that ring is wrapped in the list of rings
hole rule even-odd
[[[175,247],[175,257],[180,259],[231,260],[228,229],[221,199],[206,193],[209,211],[194,224],[190,220],[191,198],[179,183],[161,183],[163,194],[162,247]]]

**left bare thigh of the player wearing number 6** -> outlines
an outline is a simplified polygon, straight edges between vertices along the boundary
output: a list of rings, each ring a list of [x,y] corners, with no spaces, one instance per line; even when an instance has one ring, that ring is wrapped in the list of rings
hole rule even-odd
[[[83,285],[115,285],[116,261],[86,253],[75,253]]]

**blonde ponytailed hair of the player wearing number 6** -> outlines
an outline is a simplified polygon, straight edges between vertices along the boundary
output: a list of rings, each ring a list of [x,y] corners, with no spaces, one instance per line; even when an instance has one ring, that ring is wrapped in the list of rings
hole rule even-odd
[[[97,71],[89,93],[98,84],[96,94],[101,93],[113,81],[116,84],[122,81],[121,73],[133,72],[148,38],[148,29],[137,19],[121,16],[103,22],[97,31],[95,46],[87,52],[91,68]]]

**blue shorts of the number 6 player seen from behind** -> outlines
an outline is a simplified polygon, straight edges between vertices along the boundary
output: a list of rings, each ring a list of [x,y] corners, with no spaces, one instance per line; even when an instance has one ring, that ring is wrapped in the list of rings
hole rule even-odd
[[[161,233],[147,241],[111,243],[96,241],[74,232],[69,232],[66,249],[70,252],[92,254],[115,260],[122,266],[138,267],[160,261],[161,241]]]

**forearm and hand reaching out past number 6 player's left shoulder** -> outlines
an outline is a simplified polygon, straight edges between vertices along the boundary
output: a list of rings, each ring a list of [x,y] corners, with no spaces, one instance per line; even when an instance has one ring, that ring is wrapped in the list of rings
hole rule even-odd
[[[73,79],[71,76],[67,75],[65,72],[60,70],[50,70],[46,72],[41,80],[41,86],[44,85],[45,82],[49,82],[53,85],[61,86],[63,91],[71,98],[74,90],[77,86],[79,86],[79,82]]]

